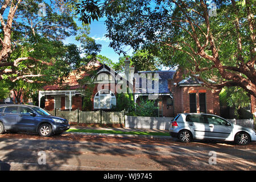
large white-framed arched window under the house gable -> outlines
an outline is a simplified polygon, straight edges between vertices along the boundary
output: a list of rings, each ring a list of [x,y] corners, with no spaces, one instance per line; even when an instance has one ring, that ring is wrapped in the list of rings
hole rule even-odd
[[[110,90],[100,90],[95,94],[94,109],[111,109],[112,105],[116,105],[116,98]]]

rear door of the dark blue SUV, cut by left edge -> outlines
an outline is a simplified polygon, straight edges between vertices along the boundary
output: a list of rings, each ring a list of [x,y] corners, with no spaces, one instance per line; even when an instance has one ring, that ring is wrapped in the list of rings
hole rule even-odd
[[[7,130],[17,130],[17,118],[18,118],[18,106],[7,106],[3,113],[1,113],[1,118],[3,123],[5,123],[5,128]]]

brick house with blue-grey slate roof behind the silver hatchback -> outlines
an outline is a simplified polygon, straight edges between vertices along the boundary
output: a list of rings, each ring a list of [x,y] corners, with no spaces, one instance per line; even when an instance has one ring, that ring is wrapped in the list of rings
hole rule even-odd
[[[156,95],[159,117],[174,117],[178,113],[211,113],[220,115],[218,90],[203,86],[195,78],[183,79],[181,71],[142,71],[139,75],[158,74],[159,93],[135,92],[135,100],[139,97]],[[142,79],[141,79],[142,80]],[[141,80],[139,85],[141,86]],[[150,99],[148,97],[148,99]],[[153,98],[154,99],[154,98]]]

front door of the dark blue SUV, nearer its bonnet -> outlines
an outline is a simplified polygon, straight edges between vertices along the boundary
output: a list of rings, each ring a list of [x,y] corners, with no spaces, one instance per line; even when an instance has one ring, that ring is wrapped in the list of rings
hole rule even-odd
[[[32,109],[27,106],[20,106],[17,126],[19,130],[34,131],[36,129],[36,119]]]

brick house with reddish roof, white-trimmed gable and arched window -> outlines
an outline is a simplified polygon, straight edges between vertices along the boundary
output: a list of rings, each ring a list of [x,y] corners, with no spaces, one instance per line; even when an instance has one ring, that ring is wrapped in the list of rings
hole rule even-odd
[[[105,64],[97,61],[94,67],[97,74],[91,77],[94,84],[91,98],[93,110],[109,110],[116,105],[116,88],[120,85],[130,88],[133,86]],[[44,97],[46,110],[82,110],[83,89],[88,85],[79,84],[79,80],[85,76],[90,75],[86,72],[72,72],[62,85],[44,86],[43,90],[39,91],[39,105],[41,98]]]

